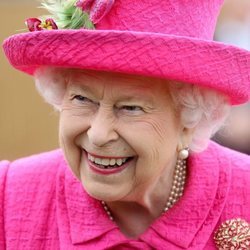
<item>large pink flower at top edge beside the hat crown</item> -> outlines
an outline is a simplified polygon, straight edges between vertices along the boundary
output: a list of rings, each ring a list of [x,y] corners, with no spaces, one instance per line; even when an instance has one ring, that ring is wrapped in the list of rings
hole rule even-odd
[[[89,12],[89,19],[97,24],[107,15],[115,0],[78,0],[76,6],[82,11]]]

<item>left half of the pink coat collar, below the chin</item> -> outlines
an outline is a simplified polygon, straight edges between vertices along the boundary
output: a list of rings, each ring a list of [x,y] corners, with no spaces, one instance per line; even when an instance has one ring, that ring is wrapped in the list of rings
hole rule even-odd
[[[64,161],[57,178],[57,210],[59,228],[70,234],[73,244],[119,230],[107,217],[101,202],[85,192]]]

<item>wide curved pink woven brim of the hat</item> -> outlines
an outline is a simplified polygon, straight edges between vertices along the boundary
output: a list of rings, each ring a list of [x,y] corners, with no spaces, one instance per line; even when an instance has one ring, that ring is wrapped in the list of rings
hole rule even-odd
[[[160,33],[52,30],[5,40],[18,70],[57,66],[164,78],[213,88],[231,104],[249,100],[250,52],[231,45]]]

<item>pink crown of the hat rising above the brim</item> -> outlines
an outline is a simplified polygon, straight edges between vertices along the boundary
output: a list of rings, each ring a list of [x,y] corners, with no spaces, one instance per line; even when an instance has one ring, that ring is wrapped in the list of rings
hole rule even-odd
[[[222,4],[223,0],[116,0],[96,28],[211,40]]]

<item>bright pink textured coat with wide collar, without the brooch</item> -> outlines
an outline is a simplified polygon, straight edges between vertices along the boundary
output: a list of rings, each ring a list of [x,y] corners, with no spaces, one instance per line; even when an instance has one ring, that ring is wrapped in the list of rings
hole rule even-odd
[[[72,175],[61,150],[0,162],[0,249],[216,249],[227,219],[250,222],[250,157],[210,143],[189,159],[184,196],[126,238]]]

